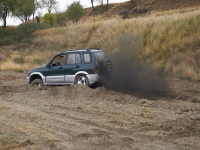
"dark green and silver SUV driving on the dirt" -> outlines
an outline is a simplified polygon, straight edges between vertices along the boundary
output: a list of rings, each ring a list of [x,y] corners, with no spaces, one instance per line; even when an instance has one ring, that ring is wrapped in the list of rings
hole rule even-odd
[[[96,86],[112,73],[112,63],[103,50],[89,48],[62,51],[44,66],[28,72],[33,86],[85,84]]]

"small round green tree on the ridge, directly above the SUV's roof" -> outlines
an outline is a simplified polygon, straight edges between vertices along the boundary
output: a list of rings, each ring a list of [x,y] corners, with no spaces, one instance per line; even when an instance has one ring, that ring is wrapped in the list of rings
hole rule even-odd
[[[80,18],[84,15],[84,9],[83,6],[80,4],[80,2],[73,2],[67,9],[67,18],[69,20],[72,20],[73,22],[77,22],[80,20]]]

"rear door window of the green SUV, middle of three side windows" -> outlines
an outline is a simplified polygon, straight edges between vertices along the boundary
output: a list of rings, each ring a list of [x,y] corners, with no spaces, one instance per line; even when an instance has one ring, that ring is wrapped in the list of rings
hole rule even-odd
[[[67,65],[80,64],[81,56],[79,53],[71,53],[67,55],[66,63]]]

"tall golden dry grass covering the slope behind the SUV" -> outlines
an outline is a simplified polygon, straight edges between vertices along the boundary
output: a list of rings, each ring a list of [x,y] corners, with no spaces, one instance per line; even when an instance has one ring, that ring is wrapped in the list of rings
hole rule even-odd
[[[1,62],[0,69],[20,68],[27,71],[47,62],[63,49],[100,47],[111,55],[123,51],[130,61],[139,58],[144,67],[162,68],[175,76],[199,81],[200,11],[179,12],[153,13],[127,20],[111,19],[37,31],[33,35],[36,50],[23,54],[25,63],[14,63],[21,53],[6,51],[12,56]],[[1,55],[1,58],[4,56]]]

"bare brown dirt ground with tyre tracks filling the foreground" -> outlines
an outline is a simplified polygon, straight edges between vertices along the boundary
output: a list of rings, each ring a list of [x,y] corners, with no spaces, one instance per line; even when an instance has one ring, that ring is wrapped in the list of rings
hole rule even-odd
[[[155,100],[82,85],[33,88],[0,73],[1,150],[199,150],[199,85]]]

